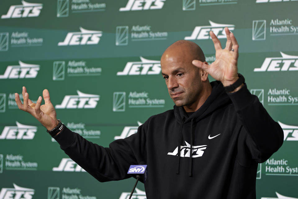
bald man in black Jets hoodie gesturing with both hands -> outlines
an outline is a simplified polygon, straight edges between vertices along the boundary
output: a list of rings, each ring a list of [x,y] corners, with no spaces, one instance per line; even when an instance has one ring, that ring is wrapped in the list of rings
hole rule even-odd
[[[32,103],[25,87],[24,104],[17,94],[16,102],[47,130],[54,128],[50,134],[61,149],[101,182],[129,178],[129,166],[145,162],[149,199],[255,198],[257,164],[278,150],[283,132],[237,73],[237,40],[225,32],[224,49],[210,32],[216,50],[210,66],[190,41],[169,46],[161,69],[174,109],[150,117],[136,134],[108,148],[57,122],[47,90],[42,106],[42,97]],[[218,81],[209,83],[208,74]]]

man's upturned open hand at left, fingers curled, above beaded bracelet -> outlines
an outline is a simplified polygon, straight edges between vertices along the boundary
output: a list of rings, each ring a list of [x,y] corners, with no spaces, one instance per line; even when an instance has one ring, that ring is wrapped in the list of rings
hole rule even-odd
[[[44,127],[46,127],[47,130],[52,130],[58,125],[59,122],[56,118],[56,110],[50,101],[50,94],[47,89],[43,90],[43,98],[39,96],[36,104],[29,99],[29,94],[27,93],[25,86],[23,86],[22,94],[24,104],[22,104],[19,94],[15,93],[15,100],[19,109],[33,115],[33,117],[36,118]],[[40,105],[43,99],[45,104]]]

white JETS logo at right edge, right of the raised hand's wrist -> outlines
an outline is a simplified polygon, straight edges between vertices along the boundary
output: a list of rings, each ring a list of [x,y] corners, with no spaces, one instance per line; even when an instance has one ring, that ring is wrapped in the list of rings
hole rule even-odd
[[[298,56],[287,55],[280,52],[282,57],[265,58],[260,68],[255,68],[254,72],[261,71],[298,71]]]

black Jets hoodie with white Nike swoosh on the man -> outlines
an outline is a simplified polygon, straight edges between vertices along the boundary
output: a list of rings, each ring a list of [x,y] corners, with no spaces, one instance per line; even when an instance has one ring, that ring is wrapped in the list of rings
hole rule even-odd
[[[129,178],[129,166],[145,162],[148,199],[255,198],[258,163],[282,145],[283,131],[246,85],[228,94],[218,81],[211,85],[211,95],[190,117],[174,106],[108,148],[66,127],[54,138],[100,182]]]

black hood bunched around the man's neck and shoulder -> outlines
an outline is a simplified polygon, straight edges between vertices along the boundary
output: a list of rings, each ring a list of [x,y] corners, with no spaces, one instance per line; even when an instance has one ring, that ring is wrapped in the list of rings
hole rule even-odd
[[[178,123],[181,123],[183,117],[185,118],[183,121],[184,124],[190,124],[191,120],[193,120],[194,123],[197,123],[208,114],[214,112],[214,110],[232,103],[231,99],[224,90],[223,84],[220,81],[212,81],[210,84],[212,86],[210,96],[206,99],[205,103],[190,117],[187,116],[183,106],[178,107],[174,105],[174,114]]]

